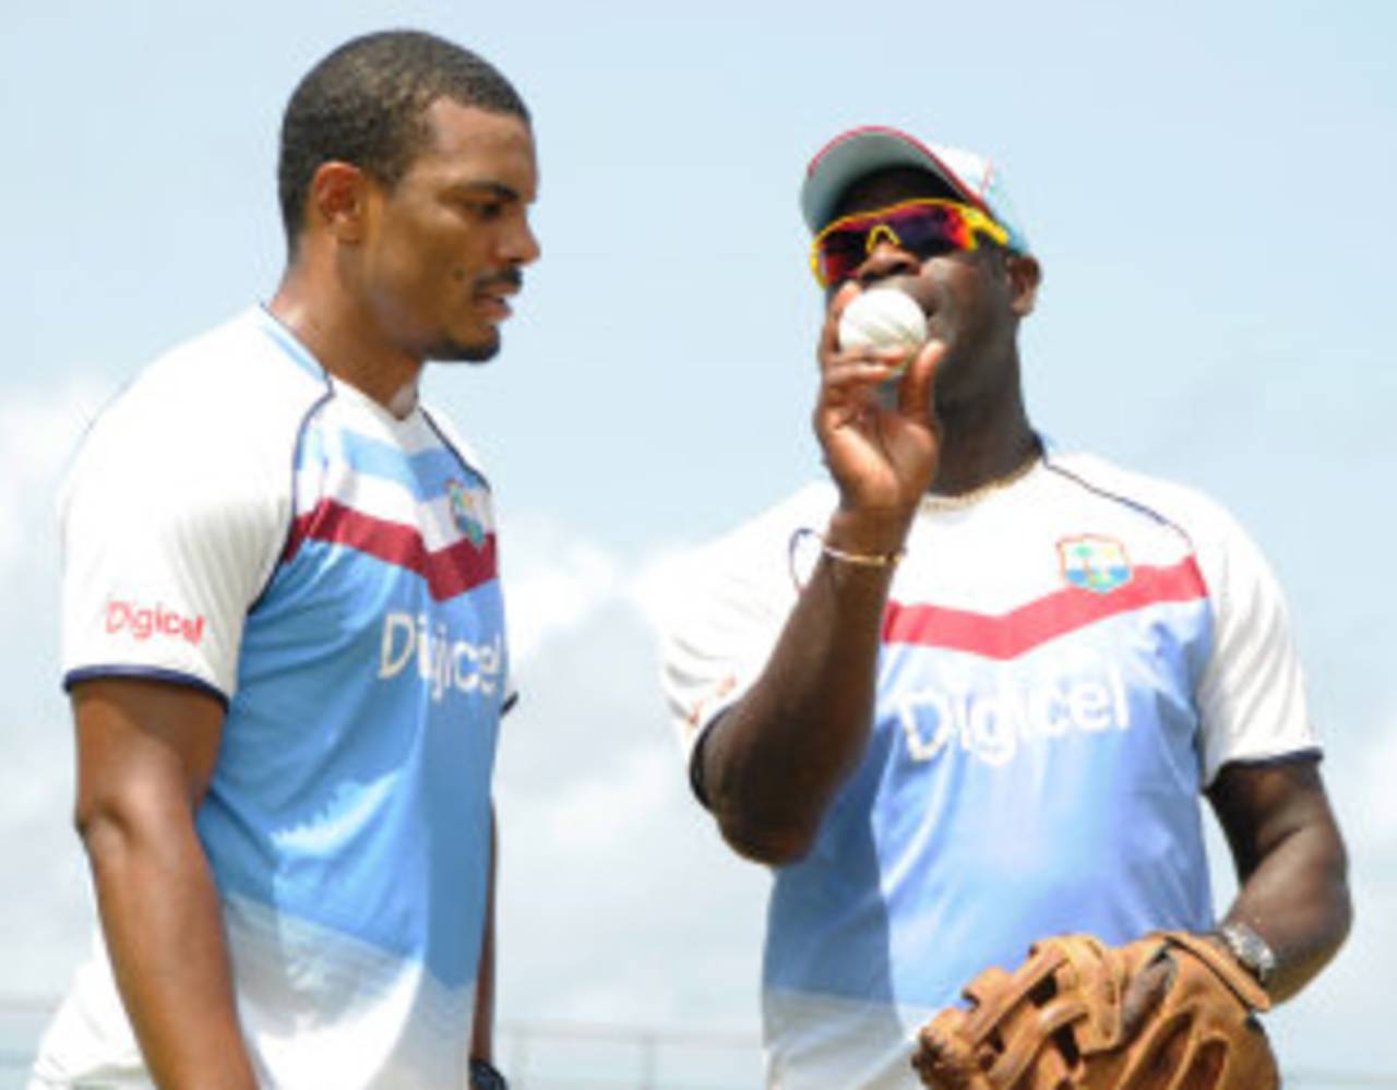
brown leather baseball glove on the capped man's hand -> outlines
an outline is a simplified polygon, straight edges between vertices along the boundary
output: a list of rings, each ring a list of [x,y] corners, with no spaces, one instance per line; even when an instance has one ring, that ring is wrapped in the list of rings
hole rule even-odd
[[[1161,959],[1168,984],[1130,1040],[1129,981]],[[1126,946],[1044,939],[1013,974],[988,968],[922,1027],[912,1066],[933,1090],[1275,1090],[1275,1056],[1253,1012],[1264,989],[1200,935]]]

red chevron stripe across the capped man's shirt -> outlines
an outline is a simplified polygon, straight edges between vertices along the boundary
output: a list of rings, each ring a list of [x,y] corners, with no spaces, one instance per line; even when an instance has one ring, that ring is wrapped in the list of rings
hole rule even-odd
[[[944,647],[986,658],[1017,658],[1049,640],[1118,613],[1204,597],[1203,574],[1190,556],[1172,567],[1136,567],[1129,583],[1108,594],[1063,587],[1000,616],[888,602],[883,612],[883,643]]]

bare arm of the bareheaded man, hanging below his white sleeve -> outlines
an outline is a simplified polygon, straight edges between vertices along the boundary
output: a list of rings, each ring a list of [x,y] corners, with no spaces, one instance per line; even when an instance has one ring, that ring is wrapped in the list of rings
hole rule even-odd
[[[73,690],[75,820],[117,988],[155,1083],[256,1087],[218,893],[194,812],[224,708],[180,685],[112,678]]]

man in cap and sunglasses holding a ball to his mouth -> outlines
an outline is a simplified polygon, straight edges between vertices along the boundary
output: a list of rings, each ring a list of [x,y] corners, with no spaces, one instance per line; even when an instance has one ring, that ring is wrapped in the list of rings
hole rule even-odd
[[[918,1027],[1053,933],[1206,933],[1294,995],[1351,907],[1266,560],[1207,497],[1030,423],[1041,268],[995,164],[859,129],[800,208],[828,474],[703,551],[664,641],[694,792],[773,868],[768,1086],[916,1086]],[[925,342],[841,345],[887,289]],[[1166,985],[1141,973],[1132,1009]]]

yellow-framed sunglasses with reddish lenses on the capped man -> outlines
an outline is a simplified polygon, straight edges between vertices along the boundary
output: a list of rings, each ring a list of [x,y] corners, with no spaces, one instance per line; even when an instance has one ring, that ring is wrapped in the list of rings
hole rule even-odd
[[[814,236],[810,268],[820,286],[828,288],[852,277],[884,242],[926,260],[977,249],[977,231],[1000,246],[1009,243],[1009,232],[979,208],[930,197],[901,201],[835,219]]]

